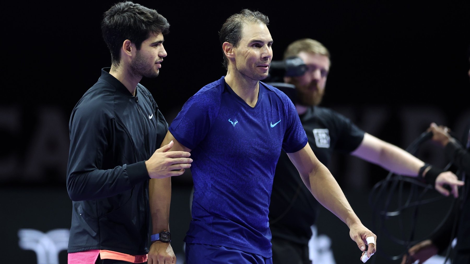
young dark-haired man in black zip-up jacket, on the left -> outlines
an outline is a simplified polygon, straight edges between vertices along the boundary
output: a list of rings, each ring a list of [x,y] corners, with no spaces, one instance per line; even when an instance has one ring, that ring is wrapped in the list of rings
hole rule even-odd
[[[158,181],[151,191],[171,188],[169,177],[190,167],[188,152],[168,151],[172,142],[157,149],[168,124],[139,83],[143,76],[158,75],[169,26],[157,11],[132,2],[104,13],[102,35],[111,68],[103,68],[78,101],[69,125],[69,263],[146,263],[150,209],[165,210],[149,203],[149,180]],[[168,219],[152,218],[152,224],[164,235],[150,246],[149,262],[175,262]]]

